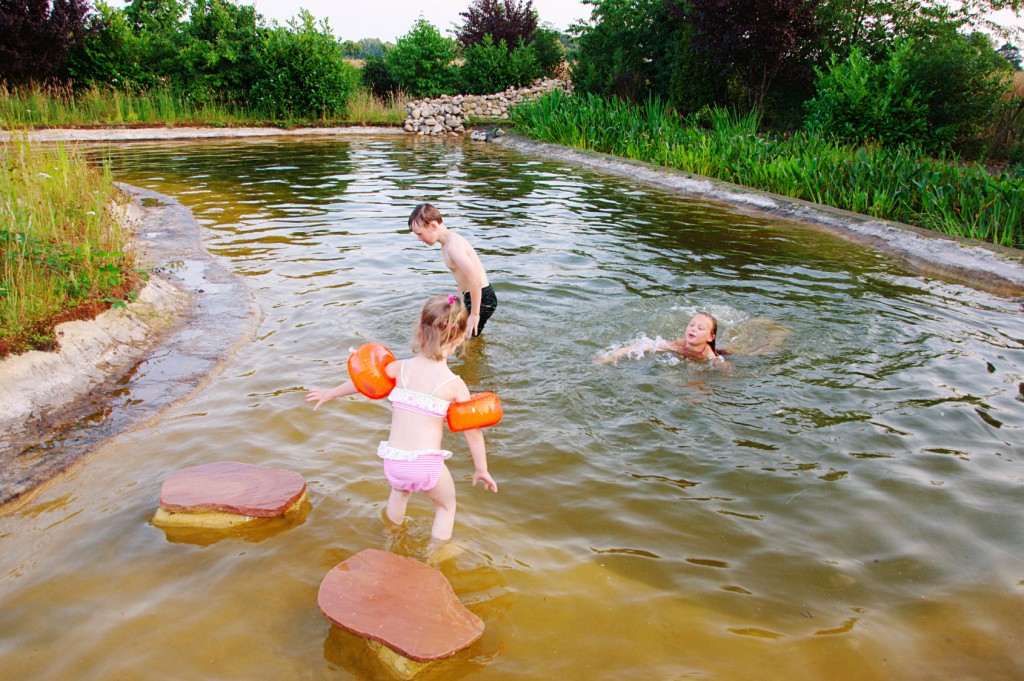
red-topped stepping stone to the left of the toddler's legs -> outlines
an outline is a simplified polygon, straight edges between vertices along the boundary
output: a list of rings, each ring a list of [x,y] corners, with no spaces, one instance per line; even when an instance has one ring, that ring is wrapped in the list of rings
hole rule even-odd
[[[168,475],[153,522],[172,527],[230,527],[291,515],[305,500],[306,481],[298,473],[220,461]]]

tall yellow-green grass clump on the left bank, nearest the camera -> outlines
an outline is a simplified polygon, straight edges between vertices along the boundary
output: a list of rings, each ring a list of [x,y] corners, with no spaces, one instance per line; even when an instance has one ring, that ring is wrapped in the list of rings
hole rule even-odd
[[[53,327],[134,297],[131,235],[108,169],[61,145],[0,146],[0,357],[53,349]]]

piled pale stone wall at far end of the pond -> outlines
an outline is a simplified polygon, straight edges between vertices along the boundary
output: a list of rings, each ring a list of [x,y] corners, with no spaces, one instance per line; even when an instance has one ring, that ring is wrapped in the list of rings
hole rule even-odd
[[[572,83],[542,78],[527,87],[509,88],[497,94],[445,94],[436,99],[417,99],[406,104],[409,115],[404,128],[418,135],[458,136],[466,132],[466,125],[471,122],[507,119],[512,107],[552,90],[571,92]]]

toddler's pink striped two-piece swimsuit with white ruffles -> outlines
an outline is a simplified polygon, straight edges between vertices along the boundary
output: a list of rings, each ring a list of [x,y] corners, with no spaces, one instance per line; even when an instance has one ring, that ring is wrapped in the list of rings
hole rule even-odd
[[[388,395],[395,409],[403,409],[415,414],[423,414],[438,419],[447,415],[451,405],[434,393],[449,381],[443,381],[430,394],[417,392],[406,387],[406,363],[399,368],[401,387],[395,386]],[[377,456],[384,460],[384,475],[391,486],[401,492],[426,492],[433,490],[440,477],[444,460],[452,456],[447,450],[399,450],[384,440],[377,448]]]

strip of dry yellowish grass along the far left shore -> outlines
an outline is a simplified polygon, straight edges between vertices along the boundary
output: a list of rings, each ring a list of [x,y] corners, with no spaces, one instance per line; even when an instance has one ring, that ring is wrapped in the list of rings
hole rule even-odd
[[[400,125],[406,119],[406,111],[399,101],[384,101],[357,89],[343,117],[281,119],[231,103],[198,103],[171,90],[122,92],[90,88],[74,91],[66,86],[11,89],[0,85],[0,128]]]

